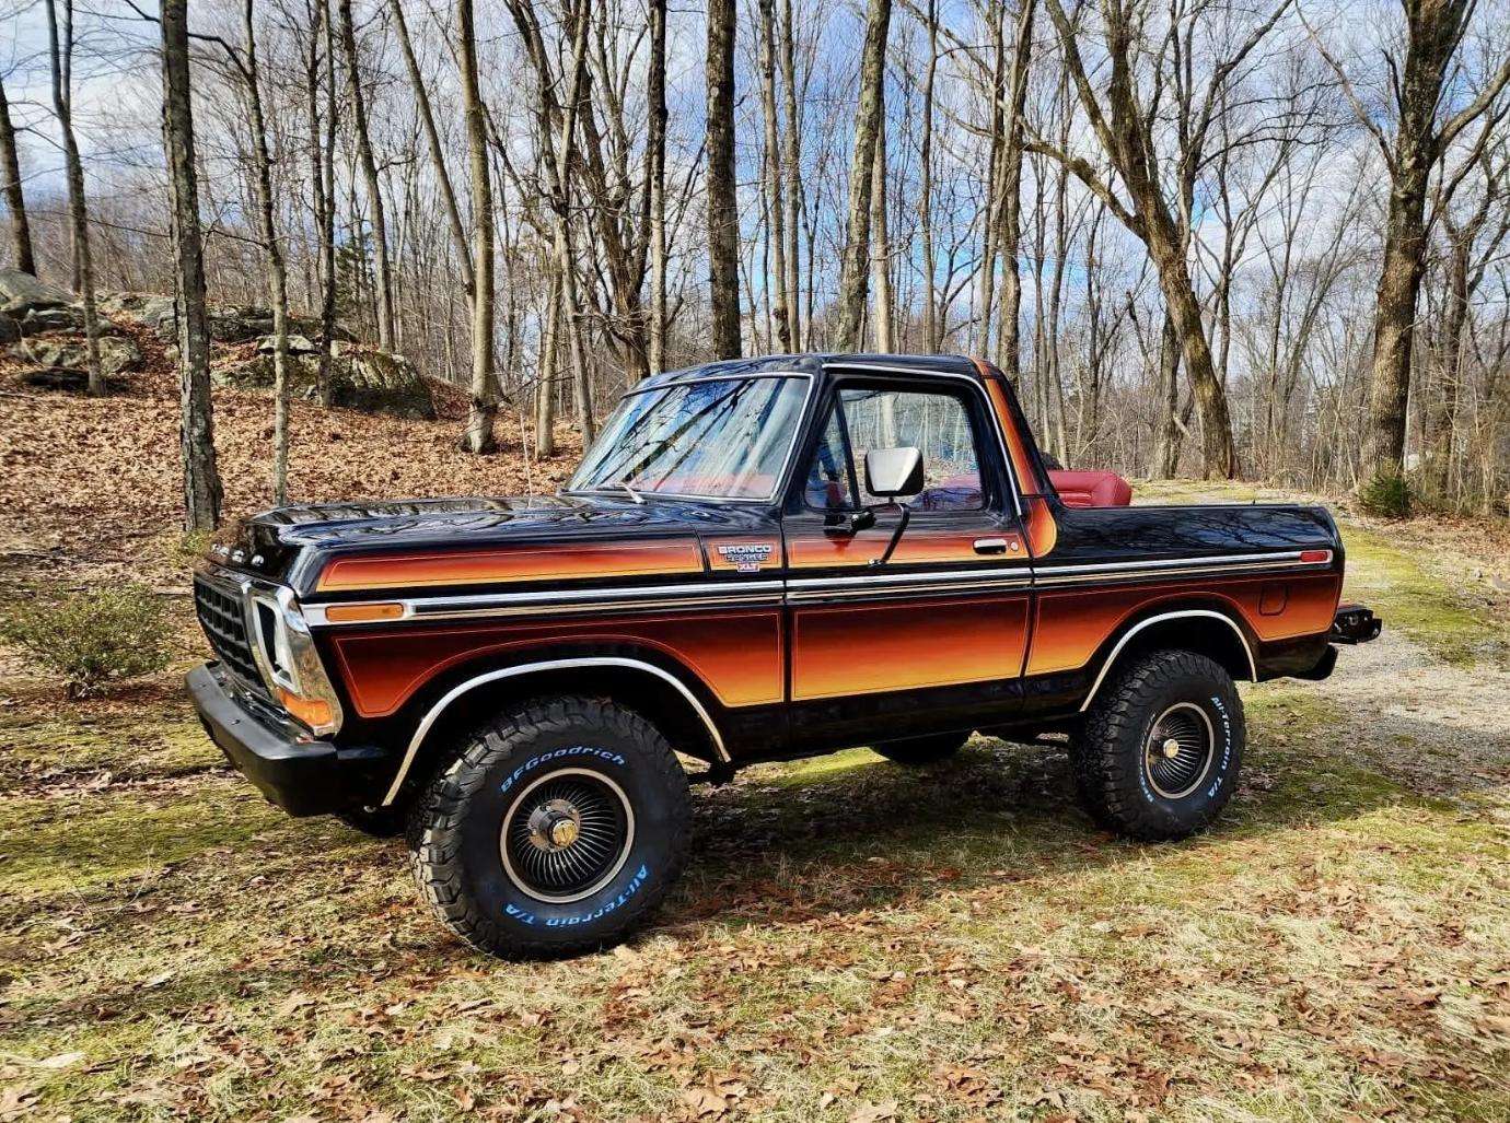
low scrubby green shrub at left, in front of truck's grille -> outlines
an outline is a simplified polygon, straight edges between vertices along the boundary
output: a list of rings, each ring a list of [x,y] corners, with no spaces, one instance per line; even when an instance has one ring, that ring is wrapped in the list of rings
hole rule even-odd
[[[0,619],[0,638],[62,675],[72,697],[163,670],[172,657],[168,613],[140,584],[32,599]]]

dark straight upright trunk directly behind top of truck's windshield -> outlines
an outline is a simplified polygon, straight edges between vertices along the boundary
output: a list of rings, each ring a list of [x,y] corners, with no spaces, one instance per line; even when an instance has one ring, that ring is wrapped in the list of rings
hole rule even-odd
[[[708,306],[713,353],[737,359],[740,208],[734,180],[734,0],[708,0]]]

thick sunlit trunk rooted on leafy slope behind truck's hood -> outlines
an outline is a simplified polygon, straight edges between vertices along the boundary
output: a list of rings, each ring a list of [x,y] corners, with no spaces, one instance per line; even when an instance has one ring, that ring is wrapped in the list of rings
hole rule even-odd
[[[396,0],[397,6],[397,0]],[[471,165],[473,211],[473,377],[471,408],[467,415],[464,447],[470,453],[491,453],[498,414],[497,377],[492,370],[492,183],[488,178],[488,124],[477,88],[477,30],[473,26],[473,0],[456,0],[461,32],[462,109],[467,115],[467,152]],[[439,157],[436,140],[436,157]],[[455,205],[455,198],[451,199]]]

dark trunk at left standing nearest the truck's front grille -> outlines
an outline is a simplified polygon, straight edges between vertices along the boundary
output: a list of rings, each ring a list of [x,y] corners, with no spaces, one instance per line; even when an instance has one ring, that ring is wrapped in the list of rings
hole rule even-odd
[[[189,95],[189,0],[163,0],[163,151],[168,155],[169,231],[178,320],[178,441],[184,465],[184,530],[220,525],[220,472],[210,402],[210,329],[205,323],[204,242]]]

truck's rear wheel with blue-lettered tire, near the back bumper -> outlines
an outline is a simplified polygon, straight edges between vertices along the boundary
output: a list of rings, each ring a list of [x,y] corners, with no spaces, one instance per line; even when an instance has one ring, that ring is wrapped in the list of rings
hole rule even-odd
[[[1205,655],[1158,651],[1119,669],[1086,714],[1071,759],[1092,818],[1136,839],[1185,838],[1232,798],[1243,700]]]

